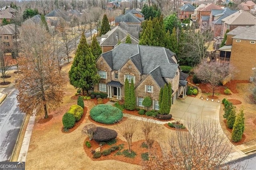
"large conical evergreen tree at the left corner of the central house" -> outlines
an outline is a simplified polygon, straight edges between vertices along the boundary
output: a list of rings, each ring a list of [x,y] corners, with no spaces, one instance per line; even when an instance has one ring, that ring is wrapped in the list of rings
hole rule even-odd
[[[84,33],[82,33],[74,61],[68,72],[70,84],[75,88],[81,88],[83,95],[84,91],[89,95],[89,89],[95,83],[98,83],[100,79],[97,71],[95,57],[92,55],[89,45],[86,42]]]

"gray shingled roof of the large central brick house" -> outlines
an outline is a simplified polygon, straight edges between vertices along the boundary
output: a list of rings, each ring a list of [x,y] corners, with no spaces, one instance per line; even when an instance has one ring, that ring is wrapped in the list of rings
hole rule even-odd
[[[162,77],[175,77],[178,64],[172,60],[175,55],[164,47],[121,43],[102,57],[113,70],[118,70],[128,59],[134,63],[142,74],[149,74],[156,67],[160,67]]]

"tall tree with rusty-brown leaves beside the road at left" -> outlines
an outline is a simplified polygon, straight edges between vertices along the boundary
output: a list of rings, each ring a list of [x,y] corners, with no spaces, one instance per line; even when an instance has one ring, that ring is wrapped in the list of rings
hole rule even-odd
[[[64,75],[53,57],[52,39],[44,26],[30,23],[22,26],[20,70],[16,83],[20,109],[32,115],[44,113],[62,103]]]

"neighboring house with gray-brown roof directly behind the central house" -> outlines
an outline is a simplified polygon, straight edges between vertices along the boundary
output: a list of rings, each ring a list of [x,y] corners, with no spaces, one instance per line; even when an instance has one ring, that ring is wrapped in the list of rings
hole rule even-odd
[[[106,34],[101,36],[100,47],[102,49],[102,52],[105,53],[107,51],[114,49],[114,47],[118,44],[119,41],[121,43],[124,43],[128,35],[130,36],[132,43],[139,43],[138,38],[135,38],[120,26],[116,26],[112,30],[108,31]]]

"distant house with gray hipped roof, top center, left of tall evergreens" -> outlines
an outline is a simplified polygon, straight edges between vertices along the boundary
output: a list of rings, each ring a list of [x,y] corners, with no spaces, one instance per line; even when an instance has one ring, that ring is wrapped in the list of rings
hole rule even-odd
[[[120,15],[115,18],[115,25],[118,26],[120,22],[126,22],[126,24],[138,24],[141,26],[141,23],[144,21],[143,18],[138,18],[134,14],[128,12],[125,15]]]

